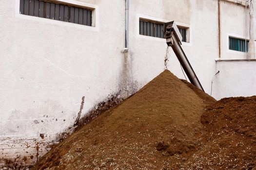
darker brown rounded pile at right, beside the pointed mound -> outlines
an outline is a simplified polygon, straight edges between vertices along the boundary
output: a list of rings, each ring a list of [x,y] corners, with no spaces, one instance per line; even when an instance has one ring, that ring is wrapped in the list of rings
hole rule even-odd
[[[201,117],[203,145],[184,167],[256,170],[256,96],[224,98]]]

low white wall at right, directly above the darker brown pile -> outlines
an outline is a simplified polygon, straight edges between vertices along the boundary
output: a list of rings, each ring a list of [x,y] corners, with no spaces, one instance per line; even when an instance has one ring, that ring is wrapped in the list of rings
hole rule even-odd
[[[217,70],[212,92],[217,100],[256,95],[256,60],[217,61]]]

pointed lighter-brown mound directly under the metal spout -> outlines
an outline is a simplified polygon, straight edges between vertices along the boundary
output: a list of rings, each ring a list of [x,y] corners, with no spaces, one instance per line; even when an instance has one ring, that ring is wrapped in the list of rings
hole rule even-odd
[[[174,166],[198,147],[207,94],[165,70],[44,155],[36,170],[155,169]],[[176,165],[175,165],[176,166]]]

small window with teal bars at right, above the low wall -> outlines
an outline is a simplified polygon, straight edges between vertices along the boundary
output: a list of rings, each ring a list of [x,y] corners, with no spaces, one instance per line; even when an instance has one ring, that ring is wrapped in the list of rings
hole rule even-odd
[[[248,52],[248,43],[249,40],[246,40],[245,45],[245,39],[229,37],[229,50]]]

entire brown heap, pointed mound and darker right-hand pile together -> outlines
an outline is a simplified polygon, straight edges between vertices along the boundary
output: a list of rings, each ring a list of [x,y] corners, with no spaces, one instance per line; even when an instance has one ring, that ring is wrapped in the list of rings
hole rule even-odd
[[[32,169],[254,169],[255,131],[256,97],[216,102],[165,70]]]

